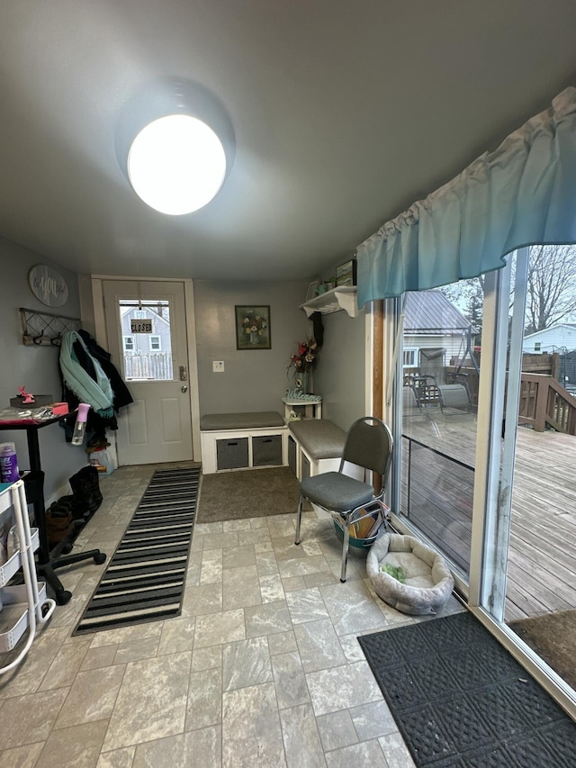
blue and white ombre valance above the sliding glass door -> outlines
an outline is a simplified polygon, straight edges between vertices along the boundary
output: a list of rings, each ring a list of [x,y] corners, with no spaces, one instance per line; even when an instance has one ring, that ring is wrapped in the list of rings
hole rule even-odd
[[[576,88],[357,248],[358,306],[504,266],[516,248],[576,242]]]

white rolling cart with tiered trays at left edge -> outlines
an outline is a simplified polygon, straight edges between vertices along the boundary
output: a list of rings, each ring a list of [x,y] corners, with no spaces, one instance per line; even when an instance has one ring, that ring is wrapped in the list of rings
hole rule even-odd
[[[37,625],[48,621],[56,608],[56,602],[46,597],[46,584],[37,581],[34,552],[40,542],[38,529],[30,527],[22,480],[0,491],[0,525],[6,523],[11,508],[14,508],[14,524],[20,547],[0,565],[0,654],[12,651],[26,630],[28,637],[15,658],[0,666],[0,674],[20,664],[30,650]],[[8,583],[20,568],[23,569],[24,583],[9,586]]]

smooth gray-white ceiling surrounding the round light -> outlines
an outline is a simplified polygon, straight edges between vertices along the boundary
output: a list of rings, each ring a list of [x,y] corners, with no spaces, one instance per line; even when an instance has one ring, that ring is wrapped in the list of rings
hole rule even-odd
[[[310,279],[576,84],[576,2],[2,0],[0,76],[4,237],[84,273]],[[166,76],[236,134],[184,217],[114,149]]]

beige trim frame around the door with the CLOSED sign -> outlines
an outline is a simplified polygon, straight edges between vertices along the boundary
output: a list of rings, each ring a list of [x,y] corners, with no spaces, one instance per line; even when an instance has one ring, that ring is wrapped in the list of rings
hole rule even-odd
[[[87,330],[94,326],[94,339],[109,348],[108,332],[104,317],[103,282],[131,283],[181,283],[184,286],[184,312],[186,318],[186,348],[188,352],[188,396],[190,398],[192,424],[193,461],[202,459],[200,442],[200,396],[198,393],[198,352],[196,346],[196,318],[194,313],[193,281],[179,277],[140,277],[126,275],[90,275],[80,282],[80,309]],[[114,435],[115,439],[115,435]]]

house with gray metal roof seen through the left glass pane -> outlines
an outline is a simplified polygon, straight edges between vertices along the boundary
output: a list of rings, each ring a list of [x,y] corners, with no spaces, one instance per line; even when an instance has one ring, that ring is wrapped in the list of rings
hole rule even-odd
[[[442,291],[406,294],[404,312],[405,373],[440,375],[452,360],[464,362],[476,330]]]

